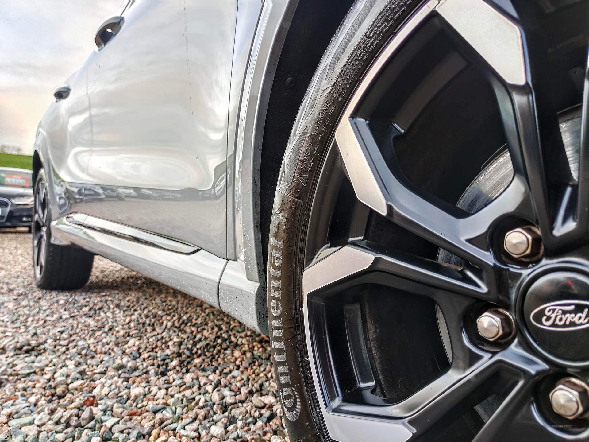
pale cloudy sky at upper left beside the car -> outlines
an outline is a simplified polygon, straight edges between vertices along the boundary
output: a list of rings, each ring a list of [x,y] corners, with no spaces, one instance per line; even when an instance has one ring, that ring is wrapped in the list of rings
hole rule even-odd
[[[0,0],[0,144],[31,153],[52,91],[94,50],[123,0]]]

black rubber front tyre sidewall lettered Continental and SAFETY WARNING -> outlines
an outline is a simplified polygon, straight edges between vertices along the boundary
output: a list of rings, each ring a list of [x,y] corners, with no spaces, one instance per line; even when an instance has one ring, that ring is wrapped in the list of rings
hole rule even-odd
[[[294,441],[328,440],[313,385],[302,310],[310,208],[337,121],[356,85],[418,1],[359,0],[327,48],[303,98],[274,198],[267,263],[273,369]]]

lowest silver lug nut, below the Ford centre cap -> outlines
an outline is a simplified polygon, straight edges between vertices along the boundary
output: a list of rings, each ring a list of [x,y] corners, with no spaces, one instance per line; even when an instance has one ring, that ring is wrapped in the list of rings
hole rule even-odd
[[[587,417],[589,386],[577,378],[561,379],[550,392],[550,404],[555,413],[567,419]]]

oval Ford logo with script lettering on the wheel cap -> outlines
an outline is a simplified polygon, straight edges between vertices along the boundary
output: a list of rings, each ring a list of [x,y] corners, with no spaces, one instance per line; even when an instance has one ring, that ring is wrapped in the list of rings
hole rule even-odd
[[[553,331],[589,328],[589,301],[554,301],[543,304],[530,315],[538,327]]]

